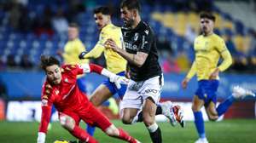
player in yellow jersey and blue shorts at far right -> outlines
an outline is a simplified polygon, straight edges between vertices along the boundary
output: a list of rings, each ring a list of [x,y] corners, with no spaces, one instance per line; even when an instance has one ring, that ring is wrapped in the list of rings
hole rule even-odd
[[[216,108],[218,73],[224,72],[232,64],[232,58],[223,38],[213,33],[214,15],[211,13],[202,13],[200,20],[202,34],[195,38],[195,60],[187,77],[183,79],[182,86],[185,89],[190,78],[194,77],[195,74],[197,75],[198,89],[195,92],[192,103],[195,127],[199,134],[199,139],[195,143],[207,143],[201,107],[205,106],[209,119],[216,121],[218,117],[227,111],[234,100],[248,94],[253,95],[253,93],[241,87],[235,87],[233,94]],[[223,61],[218,65],[220,57]]]

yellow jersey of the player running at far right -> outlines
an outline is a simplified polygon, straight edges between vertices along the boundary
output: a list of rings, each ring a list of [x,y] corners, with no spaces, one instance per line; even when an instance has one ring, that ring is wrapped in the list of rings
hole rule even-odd
[[[232,64],[232,57],[227,49],[223,38],[216,34],[209,36],[199,36],[194,42],[195,60],[189,73],[188,78],[197,75],[197,80],[209,79],[212,72],[218,68],[221,72]],[[222,63],[218,66],[220,56],[223,58]]]

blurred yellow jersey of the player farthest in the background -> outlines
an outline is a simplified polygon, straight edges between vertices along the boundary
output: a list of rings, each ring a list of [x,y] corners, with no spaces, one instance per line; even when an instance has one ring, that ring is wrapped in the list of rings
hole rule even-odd
[[[64,63],[67,65],[88,63],[89,60],[79,60],[79,54],[84,51],[84,44],[79,38],[68,41],[64,47],[64,53],[62,54]]]

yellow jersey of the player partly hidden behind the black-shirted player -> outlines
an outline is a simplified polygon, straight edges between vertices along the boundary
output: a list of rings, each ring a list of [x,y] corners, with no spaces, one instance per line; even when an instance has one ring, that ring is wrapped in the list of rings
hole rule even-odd
[[[126,60],[112,49],[105,49],[104,47],[104,43],[108,38],[112,38],[119,48],[123,47],[123,36],[120,27],[108,24],[102,28],[96,46],[90,50],[88,54],[85,54],[84,58],[98,58],[102,52],[104,52],[107,69],[113,73],[124,72],[126,68]]]

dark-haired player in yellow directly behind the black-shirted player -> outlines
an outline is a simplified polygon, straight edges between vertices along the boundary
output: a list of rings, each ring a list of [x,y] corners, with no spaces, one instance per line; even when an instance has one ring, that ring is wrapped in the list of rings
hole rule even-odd
[[[114,26],[111,21],[111,13],[108,7],[99,7],[94,9],[94,18],[96,25],[100,31],[99,41],[89,53],[83,52],[79,55],[80,59],[96,59],[104,52],[106,59],[107,69],[119,76],[125,76],[126,60],[122,58],[112,49],[105,49],[104,43],[108,38],[113,40],[121,47],[122,45],[122,32],[118,26]],[[114,83],[106,79],[94,92],[90,95],[90,101],[94,106],[100,106],[109,98],[109,106],[112,106],[112,111],[117,114],[119,111],[118,106],[113,98],[113,94],[119,94],[120,99],[123,98],[126,90],[126,85],[122,84],[118,89]],[[106,102],[104,103],[106,105]],[[87,128],[88,133],[93,135],[94,129]]]

